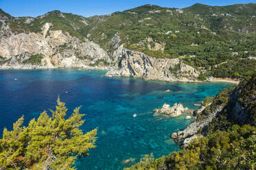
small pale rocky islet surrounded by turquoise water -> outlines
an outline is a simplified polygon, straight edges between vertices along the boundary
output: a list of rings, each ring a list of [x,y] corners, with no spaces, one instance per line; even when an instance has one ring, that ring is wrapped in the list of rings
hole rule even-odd
[[[154,109],[154,116],[161,114],[168,114],[170,117],[179,117],[185,111],[188,111],[188,108],[184,108],[183,104],[175,103],[174,106],[170,106],[169,104],[163,104],[162,108]]]

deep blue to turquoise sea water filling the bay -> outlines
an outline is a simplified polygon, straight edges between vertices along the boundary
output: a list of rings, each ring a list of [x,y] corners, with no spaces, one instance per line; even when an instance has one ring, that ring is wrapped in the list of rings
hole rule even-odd
[[[69,108],[68,114],[82,106],[86,113],[84,132],[98,127],[97,147],[89,156],[78,160],[82,169],[123,169],[122,160],[135,162],[154,153],[158,158],[179,149],[170,138],[190,121],[178,118],[153,117],[154,108],[164,103],[181,102],[195,109],[207,96],[233,86],[225,83],[174,84],[146,82],[127,77],[104,77],[105,71],[46,70],[0,71],[0,131],[11,130],[21,115],[25,125],[40,112],[54,109],[60,95]],[[170,93],[165,90],[170,89]],[[66,93],[66,91],[68,93]],[[132,114],[137,113],[133,118]],[[133,163],[135,163],[133,162]],[[131,164],[130,164],[131,165]]]

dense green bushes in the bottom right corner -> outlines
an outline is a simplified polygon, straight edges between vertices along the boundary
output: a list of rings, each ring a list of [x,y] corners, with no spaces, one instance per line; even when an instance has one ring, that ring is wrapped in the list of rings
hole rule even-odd
[[[255,169],[256,127],[233,125],[159,159],[142,158],[129,169]]]

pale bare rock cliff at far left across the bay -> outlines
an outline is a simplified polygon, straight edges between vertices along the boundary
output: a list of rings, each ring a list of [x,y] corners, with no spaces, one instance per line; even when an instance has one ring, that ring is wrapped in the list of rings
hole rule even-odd
[[[86,38],[81,41],[62,30],[49,31],[50,26],[51,23],[45,23],[40,33],[1,36],[0,68],[83,67],[95,64],[97,60],[111,62],[106,51],[94,42]],[[42,55],[43,59],[36,64],[25,62],[36,54]]]

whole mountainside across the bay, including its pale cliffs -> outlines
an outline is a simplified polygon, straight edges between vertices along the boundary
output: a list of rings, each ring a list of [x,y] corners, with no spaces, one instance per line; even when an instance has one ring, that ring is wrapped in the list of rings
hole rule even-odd
[[[183,9],[147,4],[89,18],[60,11],[13,18],[1,12],[0,64],[2,69],[97,66],[111,69],[109,76],[167,82],[240,79],[255,71],[255,11],[256,3],[196,3]],[[159,69],[160,78],[154,73]]]

